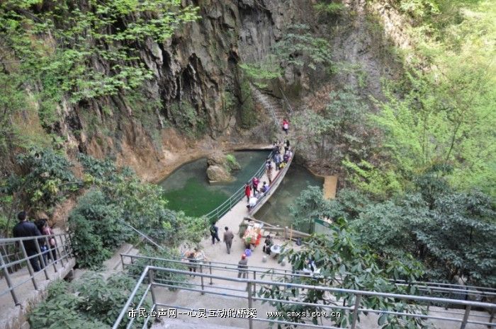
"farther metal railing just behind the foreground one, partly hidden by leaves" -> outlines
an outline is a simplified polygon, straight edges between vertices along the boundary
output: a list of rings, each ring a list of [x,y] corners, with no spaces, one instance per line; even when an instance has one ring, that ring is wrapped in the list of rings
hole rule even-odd
[[[125,264],[124,258],[130,258],[131,264]],[[123,268],[126,266],[138,266],[134,265],[133,259],[146,259],[146,260],[156,260],[159,262],[166,262],[171,264],[180,264],[188,266],[189,262],[184,262],[185,258],[157,258],[143,255],[130,255],[130,254],[120,254],[120,259],[123,265]],[[230,264],[227,262],[215,262],[215,261],[205,261],[198,260],[196,264],[203,264],[204,268],[208,268],[210,270],[222,270],[225,272],[237,272],[238,268],[236,264]],[[264,277],[270,275],[272,277],[290,277],[290,278],[305,278],[308,279],[309,276],[303,273],[294,272],[293,270],[281,270],[276,268],[269,267],[261,267],[261,266],[249,266],[247,271],[250,274],[253,274],[253,277]],[[318,278],[318,277],[310,277],[310,278]],[[338,279],[339,281],[339,279]],[[410,282],[405,283],[403,280],[390,280],[397,286],[413,286],[419,289],[419,291],[424,292],[444,292],[444,293],[455,293],[459,292],[461,294],[473,295],[473,296],[481,296],[481,297],[496,297],[496,292],[493,292],[491,288],[484,287],[472,287],[472,286],[462,286],[451,284],[453,287],[457,288],[445,288],[445,287],[436,287],[440,283],[438,282]],[[285,281],[286,282],[286,281]],[[478,290],[475,290],[478,288]]]

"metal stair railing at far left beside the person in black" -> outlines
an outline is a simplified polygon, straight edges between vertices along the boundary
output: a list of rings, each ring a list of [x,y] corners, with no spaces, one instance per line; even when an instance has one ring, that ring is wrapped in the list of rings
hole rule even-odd
[[[55,246],[50,246],[51,238],[55,239]],[[58,242],[57,238],[59,240]],[[23,241],[33,241],[35,243],[36,253],[28,255]],[[40,241],[43,241],[43,243]],[[47,267],[53,266],[55,272],[59,270],[59,268],[57,268],[58,264],[60,264],[60,268],[64,267],[64,261],[67,262],[68,258],[73,257],[72,243],[69,233],[47,234],[43,236],[31,236],[23,238],[0,238],[1,245],[9,246],[14,243],[16,244],[16,248],[21,249],[23,257],[19,258],[18,260],[11,261],[9,257],[6,257],[7,255],[2,255],[0,250],[0,272],[3,272],[4,278],[7,283],[7,289],[2,290],[0,292],[0,296],[3,296],[4,294],[10,292],[14,304],[20,305],[21,303],[19,302],[18,296],[16,294],[16,288],[20,287],[22,284],[25,284],[28,281],[31,281],[35,290],[38,290],[39,288],[35,277],[43,273],[45,275],[45,279],[50,279],[50,276],[47,272]],[[41,246],[43,246],[44,244],[46,244],[46,246],[50,246],[50,248],[42,251]],[[55,256],[53,255],[53,251],[55,251]],[[50,257],[50,262],[46,262],[45,260],[45,258],[48,257]],[[54,258],[57,259],[55,260]],[[37,264],[39,260],[40,271],[34,272],[33,266],[31,265],[31,260],[35,260]],[[21,265],[23,262],[26,262],[27,264],[29,277],[21,282],[13,282],[11,273],[9,273],[9,268],[13,267],[14,265]]]

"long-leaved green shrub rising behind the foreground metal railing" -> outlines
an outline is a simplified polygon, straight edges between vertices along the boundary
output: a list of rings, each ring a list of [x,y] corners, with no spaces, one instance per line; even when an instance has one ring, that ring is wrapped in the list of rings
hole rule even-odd
[[[415,294],[416,289],[414,287],[410,285],[399,287],[390,282],[390,279],[405,279],[407,282],[412,282],[422,275],[422,267],[415,261],[404,263],[393,260],[383,268],[383,265],[378,262],[378,256],[357,241],[356,233],[344,219],[339,219],[335,222],[329,235],[314,235],[301,250],[295,251],[293,248],[283,250],[280,257],[288,258],[295,271],[303,270],[307,260],[315,262],[316,267],[320,270],[318,275],[293,277],[292,280],[293,283],[321,287]],[[315,325],[318,325],[324,319],[317,316],[302,316],[302,314],[320,311],[327,311],[327,314],[330,314],[332,308],[289,304],[284,300],[298,300],[309,304],[327,306],[355,304],[355,296],[352,294],[322,292],[313,289],[286,289],[286,287],[266,286],[260,289],[259,294],[265,298],[282,300],[270,302],[278,311],[282,311],[283,316],[278,318],[279,320],[297,323],[311,322]],[[378,298],[376,296],[363,296],[360,306],[405,313],[425,311],[418,306],[405,304],[399,300]],[[295,315],[291,316],[288,311],[295,311]],[[353,311],[339,311],[342,312],[340,317],[326,316],[325,320],[331,321],[339,328],[344,328],[351,323]],[[359,312],[359,316],[360,314],[361,312]],[[378,317],[378,325],[384,329],[422,328],[422,323],[423,321],[418,318],[407,318],[406,316],[382,314]]]

